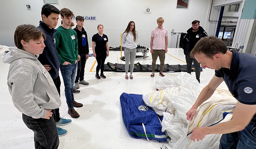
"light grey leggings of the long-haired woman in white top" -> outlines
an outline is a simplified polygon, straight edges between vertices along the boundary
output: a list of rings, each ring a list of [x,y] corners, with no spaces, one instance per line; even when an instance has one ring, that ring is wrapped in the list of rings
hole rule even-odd
[[[130,72],[132,74],[133,68],[134,68],[135,57],[136,57],[136,48],[134,48],[134,49],[124,48],[125,74],[128,74],[130,61],[131,61]]]

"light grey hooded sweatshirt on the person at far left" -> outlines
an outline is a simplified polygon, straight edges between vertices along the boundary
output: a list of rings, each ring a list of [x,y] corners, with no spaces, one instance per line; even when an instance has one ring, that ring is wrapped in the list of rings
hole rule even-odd
[[[9,50],[2,61],[10,64],[7,85],[14,106],[33,118],[44,118],[46,109],[59,108],[59,93],[38,55],[13,47]]]

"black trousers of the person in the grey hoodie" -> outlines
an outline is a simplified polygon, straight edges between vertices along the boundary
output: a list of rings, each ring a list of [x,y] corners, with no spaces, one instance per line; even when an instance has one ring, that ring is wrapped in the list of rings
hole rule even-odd
[[[54,110],[52,110],[55,115]],[[53,116],[50,119],[34,119],[22,114],[23,122],[34,131],[34,141],[36,149],[57,149],[59,146],[59,136],[56,122]]]

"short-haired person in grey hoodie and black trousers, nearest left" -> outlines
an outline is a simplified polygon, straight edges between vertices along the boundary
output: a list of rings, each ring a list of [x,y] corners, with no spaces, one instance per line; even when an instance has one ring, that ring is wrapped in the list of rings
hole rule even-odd
[[[61,100],[50,74],[37,60],[45,39],[35,26],[19,25],[14,33],[17,48],[10,47],[2,61],[10,64],[8,89],[23,122],[34,131],[35,148],[56,149],[59,136],[53,116]]]

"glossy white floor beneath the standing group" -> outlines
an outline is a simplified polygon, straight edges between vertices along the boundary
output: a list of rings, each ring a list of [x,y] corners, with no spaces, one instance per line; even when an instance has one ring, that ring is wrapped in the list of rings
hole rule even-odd
[[[2,53],[3,50],[0,50]],[[92,51],[90,50],[90,53]],[[140,53],[137,53],[137,55]],[[122,56],[123,53],[122,53]],[[148,59],[137,59],[135,63],[151,64],[151,54]],[[2,54],[0,56],[3,57]],[[110,51],[106,62],[125,63],[120,60],[120,51]],[[106,63],[105,62],[105,63]],[[68,113],[64,95],[64,84],[61,78],[60,115],[72,119],[72,123],[61,128],[68,130],[68,134],[60,137],[59,149],[160,149],[164,143],[155,140],[134,139],[129,136],[122,119],[120,95],[123,92],[147,95],[153,92],[155,81],[160,78],[158,73],[154,78],[150,72],[134,72],[133,80],[125,80],[125,73],[104,72],[106,79],[95,78],[95,58],[89,57],[86,62],[85,80],[88,86],[80,85],[81,92],[74,94],[76,101],[83,103],[83,107],[76,108],[80,114],[78,119],[71,118]],[[160,64],[160,61],[157,60]],[[165,63],[186,64],[182,49],[168,49]],[[1,149],[33,149],[33,132],[23,123],[21,113],[14,107],[7,88],[7,74],[9,64],[0,62],[0,148]],[[176,77],[178,72],[164,73],[170,78]],[[201,83],[207,85],[214,70],[204,69],[201,72]],[[61,74],[60,74],[61,76]],[[195,72],[192,72],[195,77]]]

